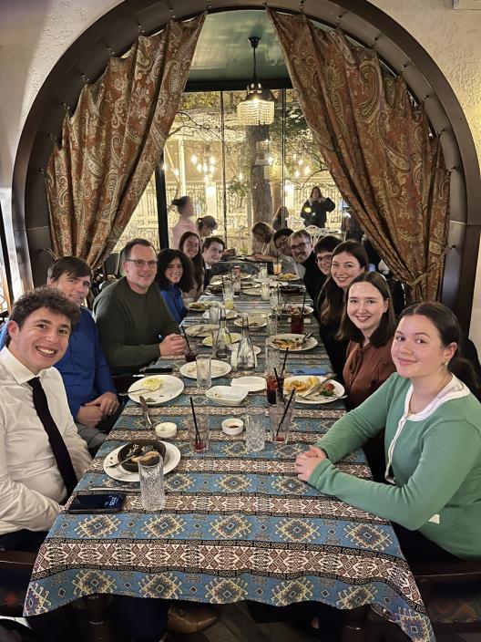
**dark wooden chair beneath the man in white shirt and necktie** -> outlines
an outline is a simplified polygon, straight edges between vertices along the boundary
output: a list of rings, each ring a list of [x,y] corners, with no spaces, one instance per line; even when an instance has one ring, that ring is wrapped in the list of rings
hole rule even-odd
[[[36,553],[0,551],[0,617],[22,617],[26,590],[2,585],[2,571],[31,575]],[[80,605],[82,606],[82,605]],[[106,618],[107,596],[88,595],[83,598],[87,610],[89,636],[93,642],[114,642],[111,623]]]

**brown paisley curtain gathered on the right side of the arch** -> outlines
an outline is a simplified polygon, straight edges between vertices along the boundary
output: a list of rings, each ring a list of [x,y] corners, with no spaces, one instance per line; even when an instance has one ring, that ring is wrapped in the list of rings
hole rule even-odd
[[[435,299],[449,223],[449,174],[423,106],[375,52],[305,16],[268,10],[312,137],[343,199],[408,285]]]

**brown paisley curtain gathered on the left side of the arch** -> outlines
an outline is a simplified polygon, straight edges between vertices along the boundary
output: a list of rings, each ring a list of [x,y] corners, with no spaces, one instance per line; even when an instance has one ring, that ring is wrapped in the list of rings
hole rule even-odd
[[[46,171],[52,247],[96,266],[115,247],[159,163],[205,14],[139,36],[86,85]]]

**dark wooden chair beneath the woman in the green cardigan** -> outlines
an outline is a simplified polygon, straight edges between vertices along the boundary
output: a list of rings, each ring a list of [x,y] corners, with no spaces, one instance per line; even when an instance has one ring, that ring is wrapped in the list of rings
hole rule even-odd
[[[412,564],[412,570],[436,637],[481,632],[481,562]],[[393,626],[369,616],[370,631],[401,639],[394,637]]]

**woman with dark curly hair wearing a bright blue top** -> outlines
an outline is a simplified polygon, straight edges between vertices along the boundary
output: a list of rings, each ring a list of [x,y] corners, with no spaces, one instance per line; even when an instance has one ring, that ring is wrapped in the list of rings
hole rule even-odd
[[[169,306],[170,314],[180,323],[187,314],[182,292],[193,287],[194,268],[189,257],[179,250],[161,250],[158,255],[157,283]]]

